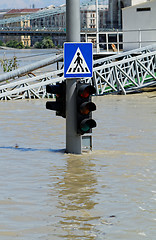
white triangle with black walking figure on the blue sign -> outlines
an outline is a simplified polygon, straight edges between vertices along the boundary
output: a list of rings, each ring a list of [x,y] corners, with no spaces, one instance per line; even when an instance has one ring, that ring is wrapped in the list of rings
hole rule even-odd
[[[90,73],[87,63],[79,48],[77,49],[66,73]]]

